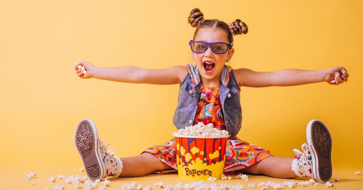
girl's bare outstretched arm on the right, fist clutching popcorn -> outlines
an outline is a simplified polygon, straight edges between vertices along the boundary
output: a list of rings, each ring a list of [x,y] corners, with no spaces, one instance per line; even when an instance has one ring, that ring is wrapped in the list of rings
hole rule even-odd
[[[249,69],[240,68],[233,70],[238,86],[247,87],[269,87],[269,86],[296,86],[318,82],[327,82],[338,85],[348,81],[349,74],[342,74],[344,67],[334,67],[326,70],[298,70],[285,69],[275,72],[255,72]],[[340,76],[335,78],[334,73],[339,72]]]

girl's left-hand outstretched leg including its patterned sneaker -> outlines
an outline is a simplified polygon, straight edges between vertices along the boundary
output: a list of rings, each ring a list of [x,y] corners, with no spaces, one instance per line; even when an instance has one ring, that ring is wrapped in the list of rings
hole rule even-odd
[[[122,159],[114,156],[114,151],[107,151],[108,145],[99,139],[97,128],[90,119],[78,123],[74,138],[86,173],[93,180],[108,176],[139,177],[157,170],[172,169],[150,153]]]

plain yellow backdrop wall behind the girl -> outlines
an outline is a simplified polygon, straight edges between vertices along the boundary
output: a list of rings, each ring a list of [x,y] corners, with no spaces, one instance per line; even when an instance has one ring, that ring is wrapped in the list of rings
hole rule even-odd
[[[176,2],[176,1],[175,1]],[[362,1],[1,1],[0,167],[79,168],[79,120],[92,119],[119,157],[160,145],[172,123],[178,85],[77,77],[73,63],[167,68],[192,63],[189,12],[241,19],[233,68],[276,71],[344,66],[349,81],[241,88],[243,140],[293,157],[306,124],[333,135],[333,167],[363,170]],[[0,169],[1,173],[5,172]],[[24,176],[27,173],[24,174]]]

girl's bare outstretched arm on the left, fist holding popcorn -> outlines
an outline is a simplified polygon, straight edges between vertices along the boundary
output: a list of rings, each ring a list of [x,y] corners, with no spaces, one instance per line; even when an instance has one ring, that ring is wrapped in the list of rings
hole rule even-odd
[[[78,65],[84,66],[87,74],[83,75],[81,69],[74,69],[80,78],[112,80],[124,83],[147,83],[147,84],[180,84],[187,74],[183,66],[174,66],[166,69],[143,69],[134,66],[103,68],[95,67],[85,61]]]

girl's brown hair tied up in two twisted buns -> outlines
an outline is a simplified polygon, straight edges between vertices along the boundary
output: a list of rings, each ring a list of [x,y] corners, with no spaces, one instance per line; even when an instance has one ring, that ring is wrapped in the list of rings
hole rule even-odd
[[[218,20],[218,19],[205,20],[203,13],[200,12],[199,8],[194,8],[190,12],[190,15],[188,17],[188,23],[190,23],[190,25],[192,25],[192,27],[197,28],[197,29],[195,29],[193,40],[200,28],[209,27],[209,28],[222,29],[223,31],[225,31],[227,33],[227,39],[228,39],[229,43],[233,42],[233,35],[232,35],[232,32],[230,31],[228,24],[221,20]],[[242,34],[242,33],[246,34],[248,32],[247,25],[244,22],[242,22],[240,19],[236,19],[236,21],[232,22],[231,25],[232,25],[232,30],[233,30],[234,35],[238,35],[238,34]]]

